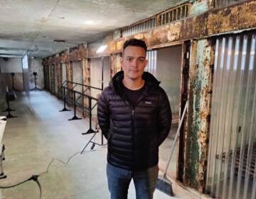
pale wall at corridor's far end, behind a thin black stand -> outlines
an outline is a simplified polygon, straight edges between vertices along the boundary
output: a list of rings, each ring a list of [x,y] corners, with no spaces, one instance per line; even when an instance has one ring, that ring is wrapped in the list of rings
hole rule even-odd
[[[28,59],[28,68],[29,68],[29,83],[31,89],[35,87],[35,79],[33,72],[36,72],[36,86],[43,89],[44,88],[44,79],[43,79],[43,65],[41,59]]]

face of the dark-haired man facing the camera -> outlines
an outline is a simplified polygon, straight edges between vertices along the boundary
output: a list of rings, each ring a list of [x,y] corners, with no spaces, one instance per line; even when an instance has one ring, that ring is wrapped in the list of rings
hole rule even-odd
[[[139,46],[127,46],[124,49],[121,65],[124,71],[124,77],[128,77],[131,80],[137,80],[142,78],[144,68],[146,67],[146,52],[144,48]]]

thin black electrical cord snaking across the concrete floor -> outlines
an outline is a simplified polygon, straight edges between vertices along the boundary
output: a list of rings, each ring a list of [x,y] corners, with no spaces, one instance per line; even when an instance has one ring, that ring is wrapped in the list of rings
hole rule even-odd
[[[44,174],[48,173],[48,171],[49,171],[49,169],[50,169],[50,165],[53,163],[53,161],[59,161],[60,163],[63,163],[63,164],[65,164],[65,165],[68,165],[68,163],[70,162],[70,160],[71,160],[73,157],[75,157],[76,155],[80,154],[80,152],[81,152],[81,151],[75,152],[75,154],[73,154],[72,156],[70,156],[70,157],[68,158],[68,161],[66,161],[66,162],[65,162],[65,161],[62,161],[62,160],[60,160],[60,159],[58,159],[58,158],[52,158],[52,160],[50,161],[50,163],[48,163],[48,166],[47,166],[46,171],[44,171],[43,173],[40,173],[40,174],[38,174],[38,175],[32,175],[30,178],[28,178],[28,179],[26,179],[26,180],[24,180],[24,181],[22,181],[22,182],[20,182],[20,183],[16,183],[16,184],[14,184],[14,185],[8,185],[8,186],[1,186],[1,185],[0,185],[0,188],[3,188],[3,189],[6,189],[6,188],[14,188],[14,187],[16,187],[16,186],[18,186],[18,185],[21,185],[21,184],[23,184],[23,183],[26,183],[26,182],[28,182],[28,181],[35,181],[36,184],[38,185],[39,190],[40,190],[40,199],[41,199],[41,198],[42,198],[42,188],[41,188],[40,182],[38,181],[38,177],[43,176]]]

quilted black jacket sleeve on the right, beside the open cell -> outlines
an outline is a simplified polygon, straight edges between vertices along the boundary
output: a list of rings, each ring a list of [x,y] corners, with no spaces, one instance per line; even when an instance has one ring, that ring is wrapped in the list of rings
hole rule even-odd
[[[159,131],[158,131],[158,144],[162,144],[164,139],[169,134],[171,129],[171,106],[169,99],[164,90],[161,90],[161,95],[159,96]]]

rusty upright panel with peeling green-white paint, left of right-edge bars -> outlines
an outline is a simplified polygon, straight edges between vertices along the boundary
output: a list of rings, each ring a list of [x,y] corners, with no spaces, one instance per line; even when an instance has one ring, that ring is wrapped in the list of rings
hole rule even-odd
[[[206,186],[213,52],[211,41],[193,42],[189,71],[184,182],[201,192]]]

